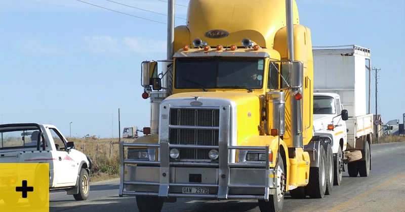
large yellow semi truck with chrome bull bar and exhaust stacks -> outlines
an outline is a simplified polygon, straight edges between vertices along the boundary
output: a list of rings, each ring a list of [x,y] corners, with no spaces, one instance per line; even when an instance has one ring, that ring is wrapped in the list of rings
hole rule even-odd
[[[150,134],[120,142],[119,196],[135,195],[140,211],[182,197],[280,211],[287,191],[331,192],[332,148],[313,134],[311,32],[295,1],[191,0],[168,49],[161,73],[142,63]]]

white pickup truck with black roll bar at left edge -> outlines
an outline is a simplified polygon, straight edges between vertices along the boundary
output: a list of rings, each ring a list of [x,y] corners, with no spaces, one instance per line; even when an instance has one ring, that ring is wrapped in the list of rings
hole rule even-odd
[[[48,163],[50,190],[66,190],[76,200],[88,198],[92,161],[75,150],[74,143],[68,142],[58,128],[32,123],[2,124],[0,139],[0,163]],[[0,196],[1,199],[10,204],[19,200],[12,195]]]

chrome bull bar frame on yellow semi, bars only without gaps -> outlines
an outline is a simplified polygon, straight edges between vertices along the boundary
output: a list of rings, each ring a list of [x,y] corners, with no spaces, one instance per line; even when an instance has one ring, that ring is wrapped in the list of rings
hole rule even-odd
[[[221,145],[222,144],[222,145]],[[123,195],[142,195],[142,196],[159,196],[159,197],[196,197],[196,198],[215,198],[215,199],[264,199],[269,200],[269,194],[275,193],[276,175],[274,169],[270,169],[269,163],[269,145],[266,146],[228,146],[226,143],[220,143],[218,146],[208,145],[181,145],[169,144],[168,142],[160,142],[160,144],[138,144],[138,143],[124,143],[119,142],[119,157],[120,157],[120,183],[119,183],[119,197]],[[141,148],[159,148],[158,154],[160,161],[145,161],[136,159],[125,160],[124,147],[141,147]],[[218,149],[219,150],[219,163],[209,162],[171,162],[169,156],[170,148],[205,148],[205,149]],[[267,152],[265,163],[229,163],[228,154],[229,150],[255,150]],[[132,181],[125,180],[125,167],[126,165],[147,165],[147,167],[154,167],[159,169],[160,178],[159,182],[150,181]],[[170,182],[170,168],[172,167],[192,167],[192,168],[214,168],[218,169],[218,183],[174,183]],[[265,170],[265,178],[263,185],[249,185],[249,184],[233,184],[229,183],[229,175],[231,169],[249,169],[249,170]],[[270,177],[272,176],[272,177]],[[140,192],[140,191],[124,191],[125,186],[155,186],[158,187],[158,192]],[[185,193],[170,193],[169,188],[173,187],[208,187],[217,188],[217,194],[185,194]],[[270,188],[272,189],[270,191]],[[229,194],[229,189],[264,189],[264,195],[246,195],[246,194]],[[271,192],[271,193],[270,193]]]

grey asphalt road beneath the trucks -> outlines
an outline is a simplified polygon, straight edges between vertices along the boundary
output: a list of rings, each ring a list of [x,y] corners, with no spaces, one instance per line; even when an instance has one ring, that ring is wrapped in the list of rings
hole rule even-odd
[[[343,174],[341,186],[322,199],[291,199],[283,211],[405,211],[405,143],[371,147],[372,170],[367,178]],[[66,192],[51,192],[50,211],[138,211],[134,197],[118,197],[118,180],[91,185],[89,199],[75,201]],[[205,201],[178,199],[162,211],[260,211],[254,200]]]

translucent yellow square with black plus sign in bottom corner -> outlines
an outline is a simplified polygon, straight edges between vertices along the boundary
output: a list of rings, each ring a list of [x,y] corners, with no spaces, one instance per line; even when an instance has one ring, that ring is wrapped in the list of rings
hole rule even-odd
[[[0,164],[0,211],[49,212],[49,164]]]

